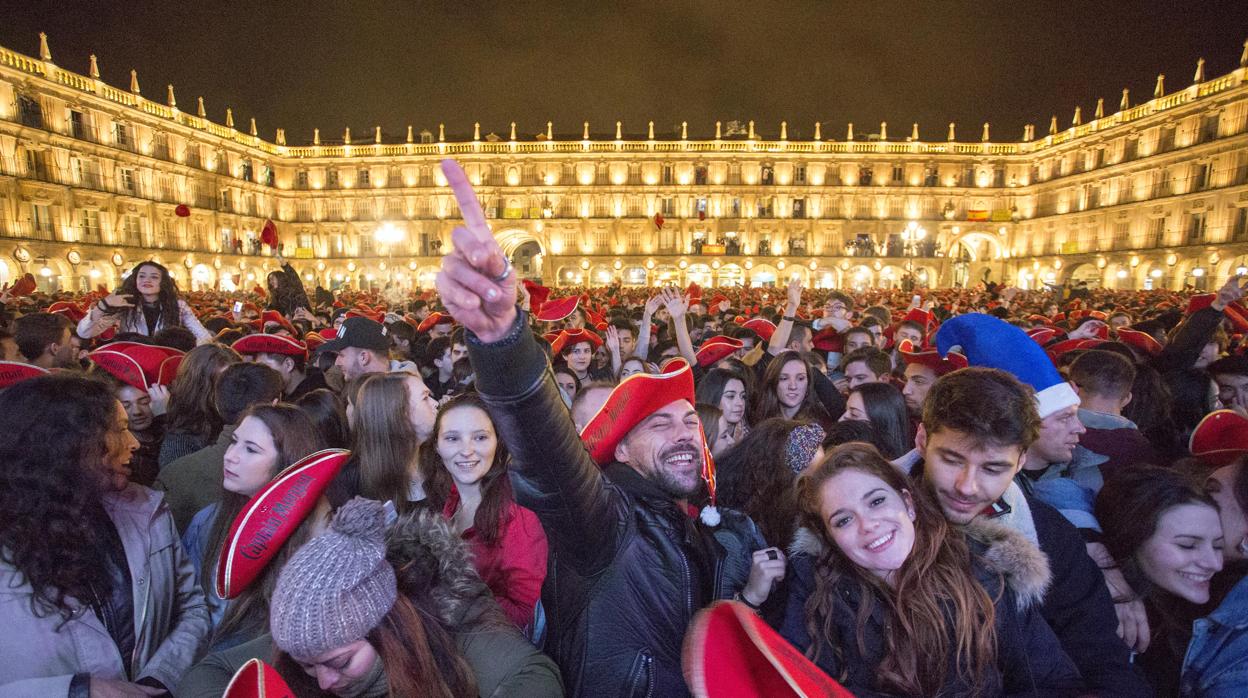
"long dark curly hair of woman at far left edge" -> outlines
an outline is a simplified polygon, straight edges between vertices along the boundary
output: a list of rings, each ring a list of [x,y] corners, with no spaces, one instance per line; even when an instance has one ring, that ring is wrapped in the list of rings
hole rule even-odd
[[[102,381],[54,373],[0,391],[0,559],[34,591],[36,616],[109,589],[97,521],[117,398]]]

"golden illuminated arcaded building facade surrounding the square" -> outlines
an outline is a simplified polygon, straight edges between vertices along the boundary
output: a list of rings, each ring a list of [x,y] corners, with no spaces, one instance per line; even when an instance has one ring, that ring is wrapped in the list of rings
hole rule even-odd
[[[550,285],[1213,288],[1248,266],[1248,44],[1227,75],[1202,60],[1174,91],[1159,76],[1147,101],[1123,92],[1018,141],[987,124],[800,140],[786,124],[716,124],[710,140],[512,124],[291,146],[172,86],[152,100],[134,72],[106,85],[94,56],[65,70],[46,37],[39,54],[0,47],[0,281],[31,271],[47,290],[111,286],[150,257],[183,286],[250,288],[275,267],[266,219],[308,282],[428,287],[458,217],[443,157]]]

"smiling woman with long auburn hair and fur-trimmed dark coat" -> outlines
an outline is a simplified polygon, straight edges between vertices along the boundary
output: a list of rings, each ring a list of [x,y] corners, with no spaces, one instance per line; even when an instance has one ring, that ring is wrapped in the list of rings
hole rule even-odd
[[[1047,561],[1021,534],[966,541],[864,443],[802,476],[799,509],[780,632],[855,696],[1081,693],[1036,611]]]

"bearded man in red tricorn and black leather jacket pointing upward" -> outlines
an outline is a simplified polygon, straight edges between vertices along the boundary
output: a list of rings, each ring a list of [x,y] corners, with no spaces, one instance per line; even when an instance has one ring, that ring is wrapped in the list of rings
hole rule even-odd
[[[784,556],[756,549],[765,543],[740,514],[719,512],[714,526],[689,504],[713,471],[685,362],[630,376],[577,433],[467,176],[449,160],[443,171],[466,225],[438,292],[467,328],[517,501],[550,542],[545,649],[569,696],[688,696],[680,649],[694,613],[736,592],[760,604]]]

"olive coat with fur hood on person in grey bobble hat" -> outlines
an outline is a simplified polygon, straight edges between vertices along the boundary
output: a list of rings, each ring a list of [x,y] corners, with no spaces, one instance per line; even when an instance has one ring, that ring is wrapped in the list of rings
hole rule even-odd
[[[449,524],[431,512],[404,516],[391,528],[387,558],[399,569],[399,591],[409,597],[427,597],[421,606],[434,607],[438,621],[454,636],[459,652],[477,679],[482,698],[558,698],[563,696],[559,669],[549,657],[529,644],[507,622],[472,566],[472,553]],[[408,561],[432,559],[436,566],[429,584],[402,572]],[[208,654],[173,691],[177,698],[218,698],[230,679],[248,659],[273,659],[273,638],[263,634],[251,642]]]

